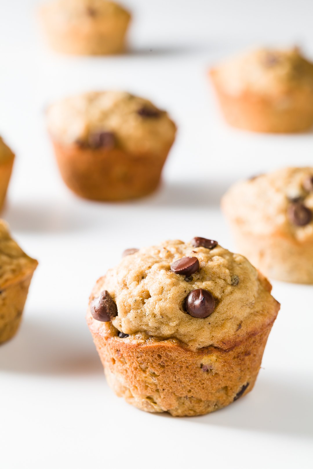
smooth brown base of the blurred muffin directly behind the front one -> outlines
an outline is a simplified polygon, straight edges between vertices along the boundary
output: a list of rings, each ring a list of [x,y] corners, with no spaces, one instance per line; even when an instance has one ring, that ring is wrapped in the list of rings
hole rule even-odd
[[[159,155],[134,155],[121,149],[89,149],[76,144],[53,147],[65,184],[78,196],[119,201],[143,197],[159,185],[170,149]]]

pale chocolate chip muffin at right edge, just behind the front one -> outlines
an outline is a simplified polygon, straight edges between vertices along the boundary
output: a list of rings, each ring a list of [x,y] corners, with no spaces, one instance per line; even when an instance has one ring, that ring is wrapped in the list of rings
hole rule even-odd
[[[235,184],[222,199],[237,249],[265,275],[313,284],[313,168]]]

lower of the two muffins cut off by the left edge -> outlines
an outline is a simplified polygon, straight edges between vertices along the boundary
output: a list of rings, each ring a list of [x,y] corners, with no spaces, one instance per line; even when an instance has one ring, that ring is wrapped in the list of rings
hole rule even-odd
[[[6,222],[0,220],[0,343],[17,332],[37,265],[11,238]]]

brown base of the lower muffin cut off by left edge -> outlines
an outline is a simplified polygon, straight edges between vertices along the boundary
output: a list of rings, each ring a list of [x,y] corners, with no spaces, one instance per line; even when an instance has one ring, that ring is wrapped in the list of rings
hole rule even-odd
[[[21,324],[32,274],[0,290],[0,344],[12,339]]]

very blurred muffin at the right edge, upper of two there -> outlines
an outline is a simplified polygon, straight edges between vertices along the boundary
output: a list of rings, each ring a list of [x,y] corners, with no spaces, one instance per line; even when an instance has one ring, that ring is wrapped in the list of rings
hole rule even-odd
[[[313,63],[298,48],[248,52],[211,69],[210,76],[233,127],[288,133],[313,125]]]

